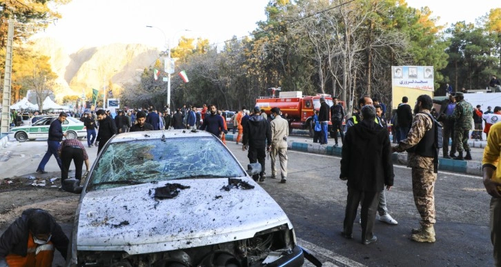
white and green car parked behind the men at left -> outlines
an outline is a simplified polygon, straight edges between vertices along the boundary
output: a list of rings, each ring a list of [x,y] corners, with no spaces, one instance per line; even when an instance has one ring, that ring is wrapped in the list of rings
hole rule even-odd
[[[57,117],[43,117],[30,126],[10,128],[9,136],[10,138],[14,137],[19,142],[35,140],[37,138],[48,138],[50,123],[55,119]],[[86,127],[78,119],[66,117],[62,126],[63,132],[66,132],[68,139],[87,137]]]

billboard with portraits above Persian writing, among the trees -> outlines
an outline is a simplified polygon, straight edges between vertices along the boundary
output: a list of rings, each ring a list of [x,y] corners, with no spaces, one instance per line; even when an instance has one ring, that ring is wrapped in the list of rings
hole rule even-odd
[[[391,66],[391,74],[393,109],[402,103],[402,97],[408,97],[409,103],[420,95],[433,97],[433,66]]]

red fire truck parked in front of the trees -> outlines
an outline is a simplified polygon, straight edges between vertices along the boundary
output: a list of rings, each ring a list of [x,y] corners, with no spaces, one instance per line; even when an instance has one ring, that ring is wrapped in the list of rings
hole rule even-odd
[[[331,95],[317,94],[314,96],[302,95],[301,91],[279,92],[278,96],[258,97],[256,106],[264,109],[270,115],[271,108],[280,108],[282,118],[289,123],[289,133],[292,129],[308,130],[313,137],[313,110],[320,110],[320,97],[324,97],[328,106],[333,106]],[[330,117],[330,116],[329,116]],[[328,122],[328,131],[331,132],[332,124]],[[333,135],[333,132],[331,132]]]

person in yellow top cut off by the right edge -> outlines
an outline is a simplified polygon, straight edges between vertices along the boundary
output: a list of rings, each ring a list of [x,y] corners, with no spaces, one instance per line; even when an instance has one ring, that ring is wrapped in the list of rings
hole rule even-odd
[[[494,108],[495,110],[495,108]],[[482,175],[485,190],[491,195],[489,205],[491,242],[494,265],[501,266],[501,123],[495,123],[487,137],[482,157]]]

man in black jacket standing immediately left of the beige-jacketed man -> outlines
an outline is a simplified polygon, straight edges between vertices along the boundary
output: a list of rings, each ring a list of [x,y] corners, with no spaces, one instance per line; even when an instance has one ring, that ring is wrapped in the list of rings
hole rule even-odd
[[[268,144],[268,151],[271,149],[271,126],[264,117],[259,115],[261,109],[255,107],[253,115],[242,123],[244,126],[244,140],[242,141],[242,150],[248,148],[247,157],[251,164],[259,161],[261,164],[261,172],[259,175],[254,175],[254,181],[264,181],[266,178],[264,172],[265,159],[266,159],[266,144]],[[206,115],[207,119],[207,115]]]

